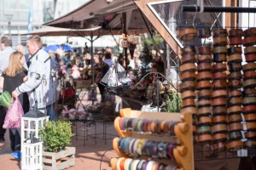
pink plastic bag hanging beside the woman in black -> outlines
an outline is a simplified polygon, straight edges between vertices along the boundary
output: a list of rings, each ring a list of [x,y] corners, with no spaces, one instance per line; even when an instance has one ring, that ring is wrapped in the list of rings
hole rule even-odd
[[[20,100],[18,98],[13,98],[4,118],[3,128],[20,128],[20,118],[23,115],[24,111],[22,105],[20,104]]]

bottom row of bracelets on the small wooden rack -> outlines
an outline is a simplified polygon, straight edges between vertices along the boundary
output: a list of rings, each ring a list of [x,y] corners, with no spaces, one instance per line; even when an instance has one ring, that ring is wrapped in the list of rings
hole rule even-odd
[[[125,157],[112,158],[112,162],[115,161],[113,170],[146,170],[146,169],[168,169],[168,170],[176,170],[177,167],[173,165],[166,165],[157,161],[146,161],[139,159],[131,159]]]

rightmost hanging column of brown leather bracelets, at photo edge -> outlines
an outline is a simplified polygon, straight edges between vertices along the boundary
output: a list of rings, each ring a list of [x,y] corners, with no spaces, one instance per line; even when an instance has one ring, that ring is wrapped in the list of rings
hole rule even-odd
[[[256,146],[256,28],[244,31],[243,46],[246,65],[242,65],[243,71],[243,99],[242,111],[246,122],[247,132],[245,146]]]

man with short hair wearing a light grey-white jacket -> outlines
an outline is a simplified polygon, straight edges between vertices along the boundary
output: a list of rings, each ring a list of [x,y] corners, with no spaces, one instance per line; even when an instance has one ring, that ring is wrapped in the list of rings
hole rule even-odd
[[[20,94],[29,93],[30,109],[46,112],[49,120],[55,120],[55,86],[50,72],[54,69],[52,59],[43,49],[43,42],[39,36],[27,38],[27,49],[30,66],[27,81],[15,88],[12,96],[17,98]]]

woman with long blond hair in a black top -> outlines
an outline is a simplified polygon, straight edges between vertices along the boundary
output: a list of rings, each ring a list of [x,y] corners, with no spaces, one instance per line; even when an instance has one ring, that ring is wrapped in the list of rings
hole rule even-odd
[[[14,52],[10,55],[9,65],[3,71],[2,77],[0,77],[0,88],[3,91],[11,94],[16,87],[20,86],[22,82],[26,82],[27,76],[25,68],[23,67],[26,62],[23,54],[20,52]],[[19,96],[20,104],[24,110],[24,113],[29,111],[28,95],[26,93]],[[11,150],[15,152],[20,151],[20,129],[9,129],[9,139]]]

